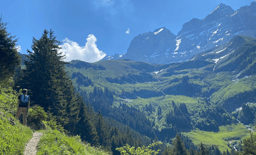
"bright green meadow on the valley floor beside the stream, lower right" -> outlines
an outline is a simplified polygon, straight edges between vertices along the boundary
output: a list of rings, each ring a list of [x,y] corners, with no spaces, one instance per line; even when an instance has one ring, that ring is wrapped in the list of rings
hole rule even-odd
[[[233,128],[233,130],[229,130],[229,128]],[[182,133],[183,135],[187,136],[189,139],[193,141],[195,145],[200,144],[201,142],[205,145],[216,145],[219,147],[220,151],[226,151],[227,149],[230,151],[231,149],[228,147],[228,143],[232,142],[232,140],[224,141],[225,138],[232,138],[232,137],[240,137],[245,138],[249,136],[249,130],[243,124],[232,124],[226,126],[220,126],[220,131],[215,132],[207,132],[201,131],[199,129],[192,130],[188,133]]]

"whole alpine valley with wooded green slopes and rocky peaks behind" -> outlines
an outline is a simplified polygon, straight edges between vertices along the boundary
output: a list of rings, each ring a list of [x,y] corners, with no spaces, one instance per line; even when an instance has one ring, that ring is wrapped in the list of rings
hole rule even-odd
[[[162,27],[136,36],[125,54],[72,60],[65,69],[86,105],[115,127],[100,143],[114,155],[126,143],[161,141],[165,150],[177,133],[187,149],[202,143],[210,155],[221,155],[217,146],[235,155],[255,130],[255,36],[256,1],[236,11],[221,3],[177,36]]]

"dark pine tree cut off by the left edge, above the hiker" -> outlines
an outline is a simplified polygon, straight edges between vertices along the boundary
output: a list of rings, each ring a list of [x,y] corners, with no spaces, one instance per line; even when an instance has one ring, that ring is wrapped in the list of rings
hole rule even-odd
[[[15,67],[20,65],[20,56],[16,49],[17,39],[7,32],[7,23],[0,17],[0,82],[12,77]]]

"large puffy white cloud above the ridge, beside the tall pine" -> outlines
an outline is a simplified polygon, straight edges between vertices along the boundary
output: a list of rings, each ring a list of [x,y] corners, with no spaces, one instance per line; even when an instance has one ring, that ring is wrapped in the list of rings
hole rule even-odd
[[[78,43],[73,42],[68,38],[64,39],[64,44],[61,46],[62,49],[60,50],[60,52],[66,54],[66,59],[64,61],[79,59],[86,62],[96,62],[106,56],[106,53],[98,50],[95,44],[97,38],[94,35],[88,35],[86,40],[87,43],[85,46],[81,47]]]

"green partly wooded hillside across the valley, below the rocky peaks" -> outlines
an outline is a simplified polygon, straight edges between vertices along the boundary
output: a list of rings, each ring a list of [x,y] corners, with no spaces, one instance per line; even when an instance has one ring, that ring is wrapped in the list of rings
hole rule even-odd
[[[92,104],[95,111],[101,110],[103,115],[129,125],[140,134],[154,138],[154,131],[160,140],[169,141],[175,131],[219,132],[220,126],[236,126],[238,118],[247,117],[238,117],[232,111],[243,103],[256,103],[256,75],[252,67],[255,48],[255,38],[237,36],[185,62],[150,64],[120,59],[87,63],[72,60],[66,70],[76,89],[83,92],[85,101]],[[112,92],[110,101],[97,103],[94,99],[91,102],[90,93],[96,95],[98,87]],[[122,111],[120,107],[125,105],[139,109],[141,117],[150,121],[147,132],[140,130],[139,124],[116,117],[118,110]],[[135,117],[128,111],[127,114],[131,119]],[[247,125],[254,123],[251,120]],[[144,125],[147,121],[144,120]],[[243,138],[245,135],[236,136]],[[223,147],[225,149],[227,146]]]

